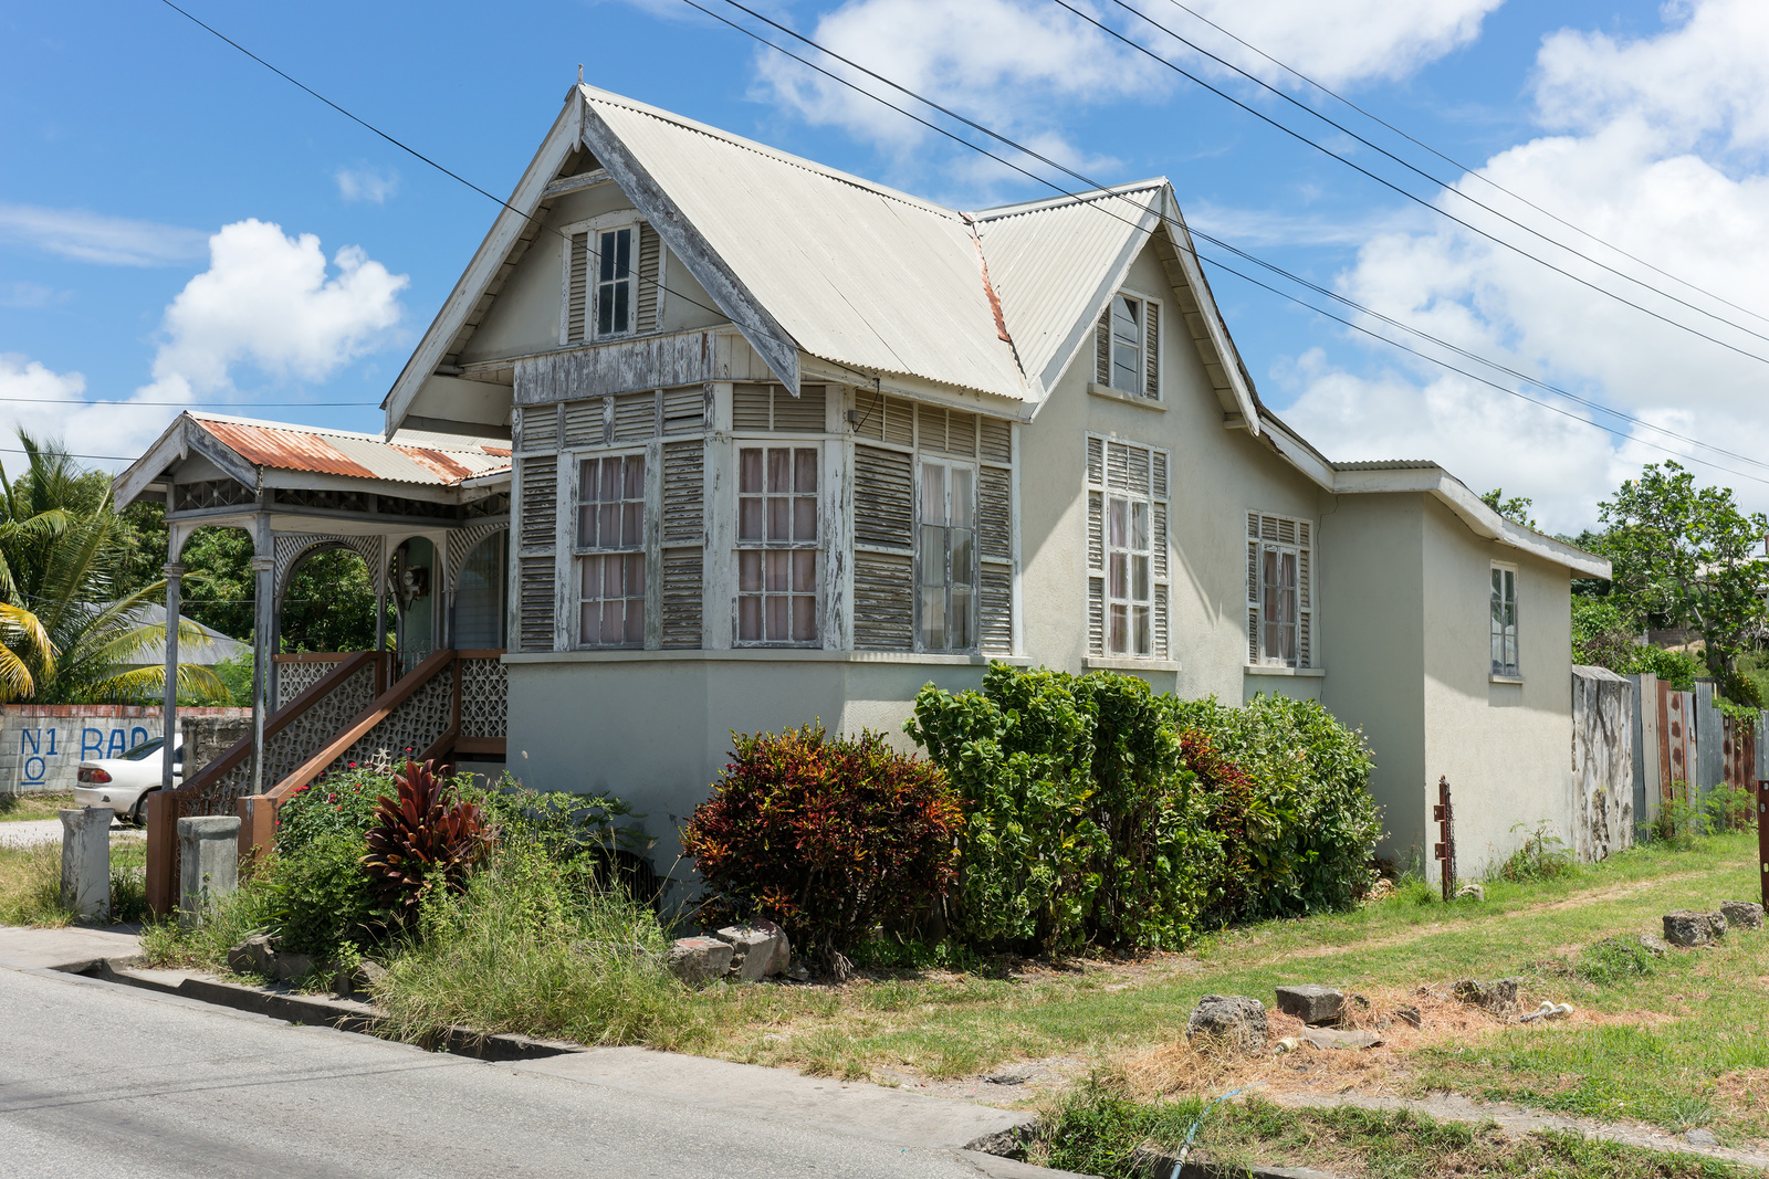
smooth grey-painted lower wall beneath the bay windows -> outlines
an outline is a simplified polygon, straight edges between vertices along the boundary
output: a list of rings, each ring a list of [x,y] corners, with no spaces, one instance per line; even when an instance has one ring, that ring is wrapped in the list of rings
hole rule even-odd
[[[678,829],[711,792],[732,730],[821,719],[831,734],[902,732],[929,681],[978,688],[985,659],[925,661],[817,650],[508,656],[506,765],[536,790],[609,792],[644,813],[651,863],[669,873]],[[678,864],[676,879],[690,875]]]

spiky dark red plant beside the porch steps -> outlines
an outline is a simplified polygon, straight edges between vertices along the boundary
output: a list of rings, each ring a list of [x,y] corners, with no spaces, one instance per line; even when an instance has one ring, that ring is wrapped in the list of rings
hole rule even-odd
[[[494,836],[479,806],[458,797],[435,762],[407,762],[393,785],[396,797],[375,804],[363,868],[380,905],[410,924],[428,891],[460,891],[467,871],[485,861]]]

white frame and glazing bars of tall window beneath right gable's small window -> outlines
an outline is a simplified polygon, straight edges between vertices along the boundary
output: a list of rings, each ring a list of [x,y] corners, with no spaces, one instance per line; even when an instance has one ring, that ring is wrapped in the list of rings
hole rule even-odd
[[[1099,460],[1093,460],[1093,449],[1099,447]],[[1113,486],[1111,475],[1111,449],[1113,447],[1132,447],[1146,456],[1148,479],[1139,490],[1129,486]],[[1159,465],[1166,468],[1164,490],[1157,490],[1157,456]],[[1095,472],[1097,467],[1097,472]],[[1129,470],[1129,460],[1125,460]],[[1130,438],[1114,438],[1109,435],[1086,435],[1086,472],[1084,472],[1084,495],[1086,495],[1086,514],[1088,529],[1091,530],[1093,504],[1099,502],[1099,529],[1100,529],[1100,564],[1093,564],[1093,541],[1088,537],[1088,544],[1083,555],[1083,564],[1088,571],[1088,652],[1090,658],[1104,659],[1150,659],[1164,661],[1173,658],[1173,454],[1162,447],[1148,445],[1146,442],[1134,442]],[[1136,518],[1136,506],[1145,507],[1145,520],[1148,523],[1148,544],[1146,548],[1134,548],[1127,544],[1113,544],[1111,534],[1111,506],[1113,502],[1122,502],[1125,506],[1125,532],[1130,534],[1132,521]],[[1157,523],[1159,520],[1159,523]],[[1113,583],[1113,553],[1122,553],[1125,557],[1125,594],[1114,592]],[[1136,597],[1136,557],[1148,557],[1148,597]],[[1095,585],[1099,583],[1099,601],[1100,601],[1100,647],[1093,650],[1091,643],[1091,626],[1093,626],[1093,599]],[[1125,649],[1116,650],[1113,643],[1113,606],[1123,606],[1125,615]],[[1137,650],[1136,642],[1136,610],[1139,606],[1148,608],[1148,650]]]

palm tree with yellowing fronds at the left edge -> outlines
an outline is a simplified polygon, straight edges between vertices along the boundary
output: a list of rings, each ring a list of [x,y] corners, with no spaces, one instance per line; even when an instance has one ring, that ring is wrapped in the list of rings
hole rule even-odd
[[[129,530],[111,509],[110,479],[67,451],[19,431],[28,461],[14,484],[0,467],[0,695],[34,704],[140,702],[165,691],[163,666],[129,666],[165,642],[163,622],[138,620],[165,580],[119,594]],[[179,640],[203,633],[184,619]],[[180,665],[179,688],[225,696],[205,666]]]

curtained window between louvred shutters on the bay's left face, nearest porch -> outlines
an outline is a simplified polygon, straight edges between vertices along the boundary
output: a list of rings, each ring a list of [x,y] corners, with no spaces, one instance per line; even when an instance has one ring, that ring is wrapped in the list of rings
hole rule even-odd
[[[578,642],[646,642],[646,456],[586,458],[578,467]]]

